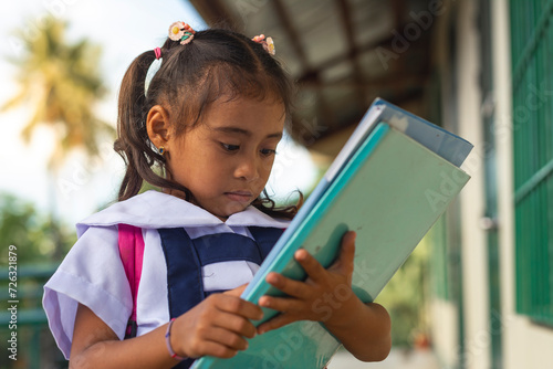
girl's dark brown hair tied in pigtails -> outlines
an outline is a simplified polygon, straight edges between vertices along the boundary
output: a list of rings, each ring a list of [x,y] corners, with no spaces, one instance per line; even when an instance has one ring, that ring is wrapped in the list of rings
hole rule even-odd
[[[195,127],[207,107],[222,96],[230,99],[281,101],[285,108],[285,122],[291,123],[293,84],[280,63],[261,44],[247,36],[211,29],[196,32],[194,40],[186,45],[167,39],[161,48],[161,66],[150,81],[147,96],[144,81],[155,60],[153,50],[138,55],[123,77],[114,145],[126,164],[119,201],[137,194],[144,181],[158,188],[181,191],[186,200],[194,199],[186,187],[170,179],[164,156],[149,140],[146,117],[155,105],[168,109],[177,135]],[[252,205],[270,215],[290,219],[302,201],[300,193],[296,205],[276,209],[263,190],[263,197],[255,199]]]

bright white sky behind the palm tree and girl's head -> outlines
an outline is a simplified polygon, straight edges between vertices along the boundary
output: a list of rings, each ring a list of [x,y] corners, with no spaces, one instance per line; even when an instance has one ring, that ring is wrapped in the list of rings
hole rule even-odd
[[[14,33],[40,32],[45,14],[69,21],[67,39],[88,38],[102,46],[101,73],[109,91],[97,106],[101,118],[115,126],[119,83],[134,57],[160,46],[169,25],[186,21],[196,30],[207,28],[194,7],[185,0],[25,0],[10,2],[0,12],[0,106],[18,91],[15,65],[21,46]],[[260,30],[259,33],[262,33]],[[21,129],[32,106],[0,112],[3,147],[0,192],[15,194],[35,203],[43,211],[55,211],[67,223],[75,223],[116,199],[124,164],[113,151],[112,141],[101,144],[101,154],[92,162],[79,152],[70,156],[55,179],[46,171],[53,149],[53,134],[41,127],[30,144],[21,140]],[[269,193],[285,199],[293,190],[311,189],[316,168],[309,152],[283,139],[278,148]],[[49,183],[54,183],[50,184]]]

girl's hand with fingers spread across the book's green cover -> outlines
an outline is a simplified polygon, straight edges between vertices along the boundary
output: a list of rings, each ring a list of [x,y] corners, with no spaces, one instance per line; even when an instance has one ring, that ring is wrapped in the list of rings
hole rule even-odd
[[[265,295],[259,299],[260,306],[282,314],[259,326],[258,333],[276,329],[296,320],[323,321],[328,328],[348,324],[348,313],[359,308],[361,303],[352,292],[354,255],[355,232],[344,235],[338,260],[327,270],[305,250],[298,250],[294,257],[307,273],[307,280],[293,281],[278,273],[267,276],[268,283],[288,296]]]

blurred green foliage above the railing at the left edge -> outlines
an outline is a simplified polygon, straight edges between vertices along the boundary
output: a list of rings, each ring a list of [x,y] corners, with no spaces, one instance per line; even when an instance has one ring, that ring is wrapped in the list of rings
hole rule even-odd
[[[51,262],[55,241],[65,254],[76,241],[74,230],[40,213],[29,202],[0,193],[0,261],[6,265],[8,247],[18,247],[18,264]]]

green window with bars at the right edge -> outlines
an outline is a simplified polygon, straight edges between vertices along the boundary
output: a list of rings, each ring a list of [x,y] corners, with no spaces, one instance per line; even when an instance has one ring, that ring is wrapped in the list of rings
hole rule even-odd
[[[553,0],[512,0],[517,310],[553,325]]]

